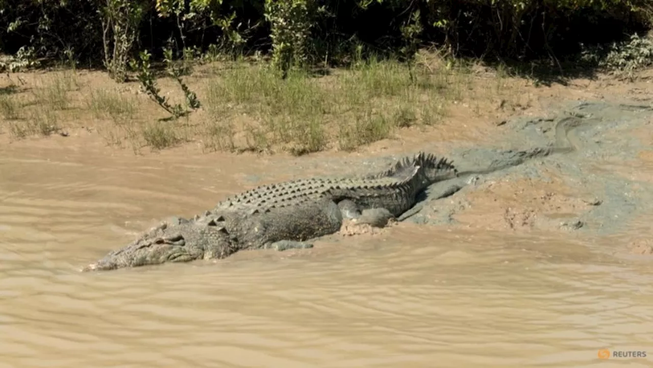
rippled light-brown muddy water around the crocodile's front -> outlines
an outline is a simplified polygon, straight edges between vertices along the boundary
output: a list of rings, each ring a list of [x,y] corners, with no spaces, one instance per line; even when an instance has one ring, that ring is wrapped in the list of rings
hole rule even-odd
[[[240,173],[268,159],[0,151],[0,367],[653,361],[650,263],[599,242],[402,224],[301,252],[79,273],[155,220],[252,186]],[[603,347],[648,358],[599,360]]]

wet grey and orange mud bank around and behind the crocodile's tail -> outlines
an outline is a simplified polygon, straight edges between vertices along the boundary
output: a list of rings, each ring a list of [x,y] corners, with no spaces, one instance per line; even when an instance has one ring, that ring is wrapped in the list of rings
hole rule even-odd
[[[432,185],[418,204],[421,210],[405,221],[586,235],[626,231],[634,218],[653,214],[652,116],[653,107],[642,103],[574,101],[548,116],[499,124],[496,146],[471,148],[468,142],[449,142],[447,147],[415,147],[453,159],[461,172],[496,171]],[[556,132],[561,122],[571,123],[562,133],[575,150],[539,156],[541,148],[563,144],[561,132]],[[377,171],[409,153],[367,159],[298,158],[291,171],[330,175]]]

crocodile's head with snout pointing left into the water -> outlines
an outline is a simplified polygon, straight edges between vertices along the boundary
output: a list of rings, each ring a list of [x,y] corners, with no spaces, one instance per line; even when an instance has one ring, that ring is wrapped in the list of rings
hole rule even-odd
[[[233,252],[227,231],[219,222],[163,223],[128,246],[84,267],[82,271],[224,258]]]

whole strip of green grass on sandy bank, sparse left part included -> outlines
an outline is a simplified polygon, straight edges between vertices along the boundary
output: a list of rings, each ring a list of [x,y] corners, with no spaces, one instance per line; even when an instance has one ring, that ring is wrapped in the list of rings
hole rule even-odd
[[[202,108],[176,120],[163,120],[155,103],[135,95],[137,82],[118,85],[104,74],[74,71],[47,73],[28,92],[0,95],[0,117],[18,138],[83,122],[108,144],[129,142],[135,152],[201,141],[208,150],[301,155],[393,139],[400,129],[438,124],[452,101],[475,99],[470,66],[462,63],[421,62],[410,71],[392,59],[370,59],[328,75],[293,71],[285,79],[263,61],[212,67],[184,77]],[[183,104],[174,80],[157,82],[171,103]]]

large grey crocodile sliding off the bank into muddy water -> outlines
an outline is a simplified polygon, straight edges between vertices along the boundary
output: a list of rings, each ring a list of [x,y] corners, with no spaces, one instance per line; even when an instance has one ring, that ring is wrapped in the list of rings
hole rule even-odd
[[[345,218],[370,215],[370,224],[385,224],[413,207],[424,188],[456,176],[452,161],[419,152],[370,175],[259,186],[192,219],[163,222],[83,271],[219,259],[246,249],[311,248],[306,241],[336,233]]]

